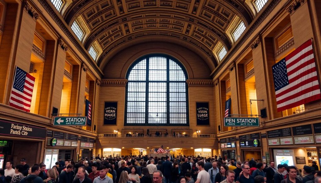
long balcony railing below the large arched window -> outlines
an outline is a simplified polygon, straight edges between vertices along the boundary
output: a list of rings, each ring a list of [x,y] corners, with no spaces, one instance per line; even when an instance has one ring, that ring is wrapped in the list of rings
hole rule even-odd
[[[214,134],[198,134],[198,135],[182,135],[182,134],[178,134],[178,135],[135,135],[135,134],[127,134],[127,135],[122,135],[122,134],[112,134],[112,133],[105,133],[105,134],[98,134],[99,138],[150,138],[150,137],[154,137],[154,138],[216,138],[216,135]]]

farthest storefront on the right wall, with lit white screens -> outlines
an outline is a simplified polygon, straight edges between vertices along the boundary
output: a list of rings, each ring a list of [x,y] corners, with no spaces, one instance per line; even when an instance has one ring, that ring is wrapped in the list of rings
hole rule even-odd
[[[236,160],[236,139],[235,137],[221,138],[221,156],[226,159]]]

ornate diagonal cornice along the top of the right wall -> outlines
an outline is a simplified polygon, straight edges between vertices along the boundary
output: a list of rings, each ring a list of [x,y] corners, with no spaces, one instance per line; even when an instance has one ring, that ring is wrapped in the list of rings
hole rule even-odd
[[[245,35],[240,39],[240,41],[237,43],[237,45],[230,50],[230,52],[226,55],[226,58],[221,62],[221,64],[216,68],[216,70],[213,72],[213,76],[216,76],[219,71],[223,69],[225,64],[227,64],[232,56],[236,54],[236,52],[241,48],[241,46],[244,45],[245,41],[249,39],[249,37],[253,34],[253,32],[261,25],[263,21],[270,15],[270,13],[273,11],[273,9],[281,2],[281,0],[274,0],[271,1],[271,3],[266,7],[265,11],[262,12],[262,14],[259,15],[259,17],[256,19],[256,21],[253,23],[251,27],[249,27],[248,31],[245,33]]]

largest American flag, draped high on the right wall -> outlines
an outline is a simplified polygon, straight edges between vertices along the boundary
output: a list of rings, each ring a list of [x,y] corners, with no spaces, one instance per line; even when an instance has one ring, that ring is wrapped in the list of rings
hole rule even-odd
[[[321,98],[312,40],[272,66],[278,112]]]

